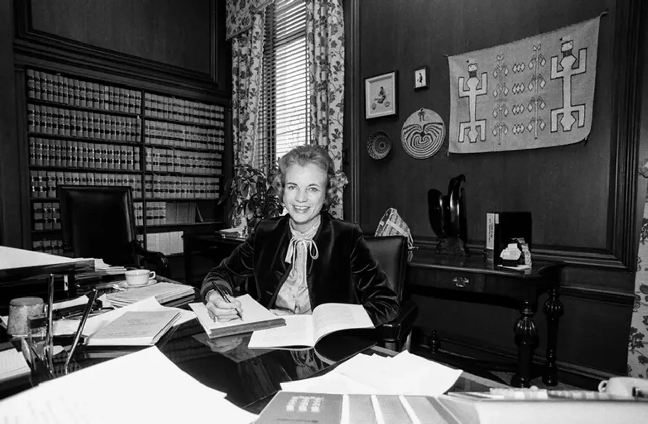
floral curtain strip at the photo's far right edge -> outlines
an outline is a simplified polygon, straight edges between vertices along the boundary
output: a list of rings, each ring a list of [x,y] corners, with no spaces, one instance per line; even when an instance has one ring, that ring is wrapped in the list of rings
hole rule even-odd
[[[648,177],[648,163],[643,166],[641,175]],[[648,378],[648,195],[642,200],[644,202],[643,221],[639,236],[637,272],[634,277],[634,307],[628,342],[628,375]]]

